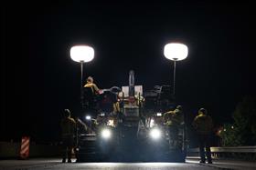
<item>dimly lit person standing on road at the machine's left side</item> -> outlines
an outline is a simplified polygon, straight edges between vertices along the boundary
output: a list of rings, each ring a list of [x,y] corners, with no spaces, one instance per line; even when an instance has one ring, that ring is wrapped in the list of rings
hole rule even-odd
[[[62,163],[66,162],[68,155],[68,163],[71,163],[72,149],[74,147],[74,137],[76,133],[76,122],[70,117],[69,109],[64,110],[64,117],[61,119],[61,136],[62,136]]]

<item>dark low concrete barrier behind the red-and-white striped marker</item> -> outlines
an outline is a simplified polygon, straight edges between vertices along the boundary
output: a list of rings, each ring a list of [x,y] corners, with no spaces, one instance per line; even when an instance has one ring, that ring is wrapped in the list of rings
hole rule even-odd
[[[18,158],[20,143],[0,142],[0,158]],[[59,145],[37,145],[30,144],[29,157],[51,157],[60,156]]]

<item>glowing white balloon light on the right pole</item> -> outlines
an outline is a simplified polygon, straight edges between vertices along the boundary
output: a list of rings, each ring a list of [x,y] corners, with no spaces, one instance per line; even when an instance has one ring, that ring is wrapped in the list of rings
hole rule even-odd
[[[184,60],[187,58],[188,48],[187,45],[179,43],[170,43],[165,45],[164,55],[167,59],[170,60]]]

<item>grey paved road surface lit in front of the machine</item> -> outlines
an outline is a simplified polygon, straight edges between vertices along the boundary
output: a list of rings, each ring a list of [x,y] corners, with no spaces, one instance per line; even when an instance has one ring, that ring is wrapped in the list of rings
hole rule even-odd
[[[255,166],[256,167],[256,166]],[[29,159],[29,160],[2,160],[1,170],[27,170],[27,169],[52,169],[52,170],[218,170],[218,169],[256,169],[250,166],[201,165],[194,161],[187,163],[60,163],[60,159]]]

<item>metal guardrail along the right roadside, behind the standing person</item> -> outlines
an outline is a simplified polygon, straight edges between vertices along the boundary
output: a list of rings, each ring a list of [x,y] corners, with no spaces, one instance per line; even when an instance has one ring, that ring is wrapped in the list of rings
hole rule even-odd
[[[234,147],[210,147],[213,158],[239,158],[256,160],[256,145]],[[187,149],[187,155],[198,155],[199,148]]]

